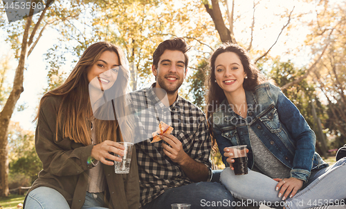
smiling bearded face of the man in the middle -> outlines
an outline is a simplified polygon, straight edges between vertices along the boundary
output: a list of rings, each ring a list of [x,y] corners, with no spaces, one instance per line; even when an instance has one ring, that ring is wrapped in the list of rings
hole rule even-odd
[[[157,68],[152,66],[152,72],[156,76],[156,88],[163,88],[167,94],[176,94],[186,75],[183,52],[165,50]]]

